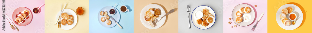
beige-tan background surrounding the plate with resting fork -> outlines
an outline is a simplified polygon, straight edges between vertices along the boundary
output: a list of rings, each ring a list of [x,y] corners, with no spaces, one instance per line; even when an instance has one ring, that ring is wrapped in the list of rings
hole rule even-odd
[[[158,29],[148,29],[140,21],[141,10],[149,4],[158,3],[163,5],[166,13],[175,9],[167,15],[167,22]],[[134,0],[134,33],[178,33],[178,0]]]

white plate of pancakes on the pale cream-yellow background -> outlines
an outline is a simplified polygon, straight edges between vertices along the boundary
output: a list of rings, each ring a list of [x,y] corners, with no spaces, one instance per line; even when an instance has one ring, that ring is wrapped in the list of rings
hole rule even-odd
[[[71,24],[71,25],[68,25],[68,24],[65,24],[65,25],[62,25],[61,24],[61,29],[64,29],[64,30],[69,30],[69,29],[72,29],[72,28],[74,28],[75,26],[76,26],[76,24],[77,24],[77,14],[73,11],[73,10],[71,10],[71,9],[64,9],[64,11],[63,11],[63,13],[67,13],[68,15],[73,15],[74,16],[74,23],[73,24]],[[60,14],[61,14],[61,11],[60,12],[58,12],[57,13],[57,17],[58,16],[60,16]],[[56,17],[56,19],[57,19],[57,17]],[[61,20],[63,19],[62,17],[60,17],[61,18]]]

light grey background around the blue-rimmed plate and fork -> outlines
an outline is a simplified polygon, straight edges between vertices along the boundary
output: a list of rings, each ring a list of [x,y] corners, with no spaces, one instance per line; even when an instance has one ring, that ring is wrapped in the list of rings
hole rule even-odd
[[[179,13],[178,13],[178,32],[179,33],[222,33],[222,0],[179,0]],[[200,5],[207,5],[213,9],[216,13],[216,22],[211,28],[202,30],[193,25],[188,20],[187,5],[190,5],[191,13],[193,10]],[[191,14],[189,14],[191,15]],[[188,23],[191,24],[191,28],[188,28]]]

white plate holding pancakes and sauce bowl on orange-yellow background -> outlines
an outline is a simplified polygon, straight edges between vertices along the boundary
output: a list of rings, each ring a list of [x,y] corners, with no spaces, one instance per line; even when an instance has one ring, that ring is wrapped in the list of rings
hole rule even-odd
[[[287,7],[292,7],[293,8],[293,12],[292,13],[295,13],[297,15],[297,21],[296,21],[296,24],[295,25],[290,25],[290,26],[285,26],[283,24],[283,22],[280,20],[280,13],[281,13],[281,10],[284,9],[284,8],[287,8]],[[300,18],[298,18],[300,15],[302,14],[302,11],[301,9],[297,6],[297,5],[294,5],[294,4],[285,4],[283,6],[281,6],[277,12],[276,12],[276,22],[278,25],[280,25],[281,28],[285,29],[285,30],[294,30],[296,28],[298,28],[300,26],[300,24],[302,23],[302,20],[303,20],[303,16],[301,16]],[[288,15],[289,13],[286,15],[287,19],[290,20],[288,18]],[[292,22],[292,21],[291,21]]]

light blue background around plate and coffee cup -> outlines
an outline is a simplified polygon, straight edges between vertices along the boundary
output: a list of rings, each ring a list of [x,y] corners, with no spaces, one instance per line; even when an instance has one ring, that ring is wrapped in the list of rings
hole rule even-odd
[[[134,1],[133,0],[90,0],[90,22],[89,22],[89,32],[90,33],[133,33],[133,10]],[[129,12],[122,13],[120,10],[120,22],[119,24],[123,27],[120,29],[117,25],[112,28],[106,28],[102,26],[97,20],[97,15],[105,6],[114,6],[116,4],[116,9],[120,9],[122,5],[128,5],[130,7]],[[113,22],[115,23],[115,22]]]

